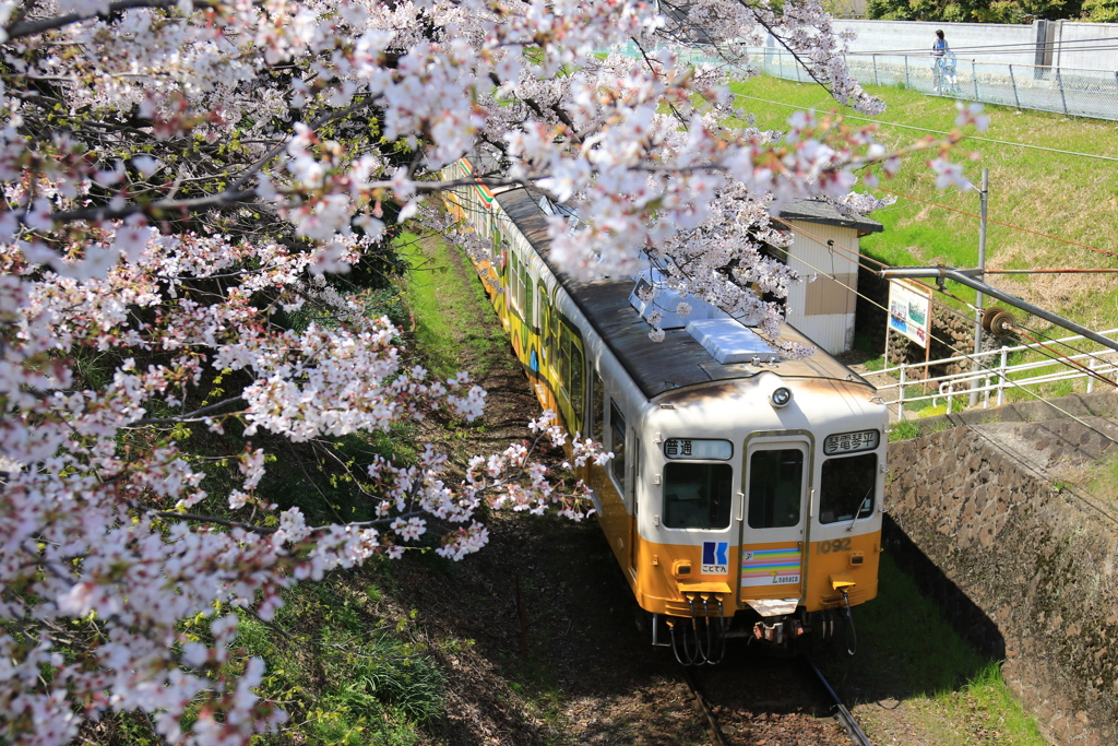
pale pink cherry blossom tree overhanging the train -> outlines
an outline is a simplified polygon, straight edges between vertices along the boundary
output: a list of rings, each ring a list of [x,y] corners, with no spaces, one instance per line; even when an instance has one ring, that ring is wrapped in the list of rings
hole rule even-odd
[[[267,620],[283,589],[433,530],[461,558],[483,503],[581,517],[534,444],[453,481],[433,447],[375,459],[368,520],[312,525],[259,485],[281,443],[481,414],[468,376],[406,363],[332,280],[437,221],[440,169],[477,149],[490,183],[578,209],[553,235],[571,275],[654,262],[776,333],[748,291],[793,280],[757,251],[767,216],[897,154],[837,117],[748,126],[721,84],[761,30],[880,111],[817,0],[0,0],[0,739],[135,710],[167,743],[246,743],[284,715],[229,653],[230,610]],[[730,67],[685,62],[695,45]],[[917,148],[955,178],[951,144]],[[549,415],[532,429],[574,466],[608,456]],[[224,434],[207,457],[235,487],[205,489],[191,433]]]

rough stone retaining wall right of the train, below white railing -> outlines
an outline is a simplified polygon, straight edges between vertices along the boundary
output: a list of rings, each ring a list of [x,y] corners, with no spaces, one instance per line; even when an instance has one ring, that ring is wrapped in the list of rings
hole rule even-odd
[[[1114,437],[1115,399],[1057,403]],[[921,421],[926,432],[950,429],[892,444],[885,507],[938,568],[921,577],[938,585],[957,629],[1004,655],[1005,680],[1044,735],[1118,743],[1118,501],[1053,478],[1114,444],[1048,419],[1059,413],[1043,404],[1004,409]],[[1010,421],[989,422],[998,414]]]

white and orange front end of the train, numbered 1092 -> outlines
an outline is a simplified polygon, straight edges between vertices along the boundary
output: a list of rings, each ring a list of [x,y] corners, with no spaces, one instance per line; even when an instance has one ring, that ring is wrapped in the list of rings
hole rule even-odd
[[[751,362],[645,413],[634,589],[653,642],[688,664],[728,636],[834,635],[878,592],[884,405],[822,351]]]

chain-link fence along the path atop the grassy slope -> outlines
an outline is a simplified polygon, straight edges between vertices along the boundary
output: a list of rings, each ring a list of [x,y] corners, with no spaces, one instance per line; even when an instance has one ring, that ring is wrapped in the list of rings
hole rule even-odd
[[[767,75],[812,82],[784,50],[752,48],[748,54],[750,64]],[[979,63],[929,55],[849,55],[846,64],[863,84],[899,85],[930,95],[1118,120],[1118,72],[1114,70]]]

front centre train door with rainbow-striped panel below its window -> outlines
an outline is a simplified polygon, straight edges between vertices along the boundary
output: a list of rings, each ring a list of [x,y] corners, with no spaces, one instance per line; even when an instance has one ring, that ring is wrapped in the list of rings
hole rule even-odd
[[[811,438],[757,434],[746,441],[742,452],[741,599],[802,598]]]

